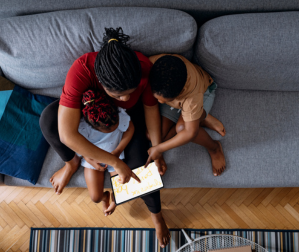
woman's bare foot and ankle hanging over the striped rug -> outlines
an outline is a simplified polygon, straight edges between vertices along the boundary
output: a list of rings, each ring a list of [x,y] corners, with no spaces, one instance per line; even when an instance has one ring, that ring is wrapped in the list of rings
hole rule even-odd
[[[160,247],[165,248],[169,244],[170,233],[162,216],[162,212],[157,214],[151,213],[151,216],[155,225],[156,235],[159,240]]]

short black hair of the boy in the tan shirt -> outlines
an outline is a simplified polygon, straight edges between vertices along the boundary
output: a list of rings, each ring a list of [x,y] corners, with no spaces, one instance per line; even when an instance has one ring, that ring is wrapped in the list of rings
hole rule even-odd
[[[154,63],[149,80],[153,93],[164,98],[175,98],[186,84],[186,65],[176,56],[162,56]]]

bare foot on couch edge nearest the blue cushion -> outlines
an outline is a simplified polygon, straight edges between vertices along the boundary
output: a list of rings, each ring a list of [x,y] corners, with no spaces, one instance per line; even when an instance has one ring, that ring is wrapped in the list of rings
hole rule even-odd
[[[80,160],[81,158],[75,155],[71,161],[66,162],[65,166],[55,172],[50,178],[50,182],[52,183],[56,194],[59,195],[62,193],[63,188],[68,184],[73,174],[78,170]]]

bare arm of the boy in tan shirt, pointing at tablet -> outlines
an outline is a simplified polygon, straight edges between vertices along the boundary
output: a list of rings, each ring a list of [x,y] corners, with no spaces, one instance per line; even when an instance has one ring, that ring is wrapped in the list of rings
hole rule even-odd
[[[161,157],[163,152],[191,142],[198,134],[199,121],[200,119],[190,122],[184,122],[184,128],[173,138],[154,147],[151,147],[148,150],[149,157],[145,164],[145,167],[147,167],[152,160]]]

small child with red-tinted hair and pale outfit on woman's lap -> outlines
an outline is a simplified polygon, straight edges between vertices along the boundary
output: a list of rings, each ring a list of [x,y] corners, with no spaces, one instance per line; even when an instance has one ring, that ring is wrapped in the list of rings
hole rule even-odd
[[[80,121],[78,131],[87,140],[97,147],[124,159],[124,149],[130,142],[134,125],[130,116],[124,109],[118,108],[103,92],[88,90],[83,94],[83,118]],[[91,199],[98,203],[103,202],[105,216],[115,210],[113,195],[104,189],[104,171],[107,169],[110,175],[116,174],[114,168],[100,164],[100,170],[96,170],[82,157],[81,165],[84,167],[84,176]]]

